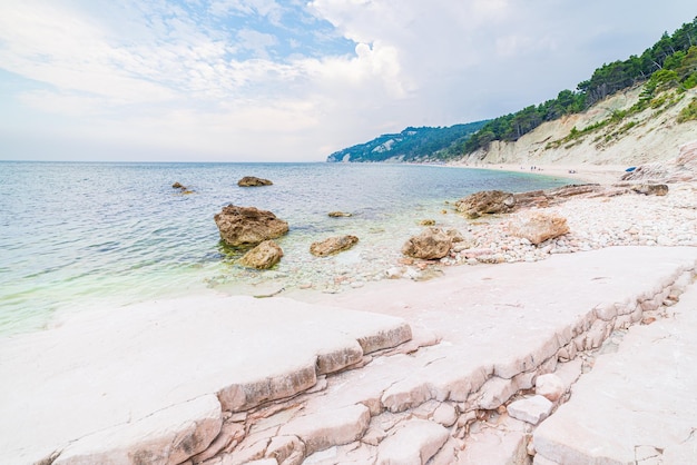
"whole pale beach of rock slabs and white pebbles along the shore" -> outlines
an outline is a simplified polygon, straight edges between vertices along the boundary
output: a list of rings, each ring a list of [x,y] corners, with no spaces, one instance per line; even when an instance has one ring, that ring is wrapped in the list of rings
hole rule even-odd
[[[532,171],[610,187],[624,169]],[[13,382],[0,390],[0,458],[685,463],[697,452],[697,186],[611,192],[478,218],[461,228],[468,247],[405,258],[393,279],[341,275],[332,288],[267,298],[208,289],[6,338],[0,376]],[[569,233],[537,245],[511,235],[540,211],[566,218]],[[632,358],[650,340],[674,345]],[[609,383],[622,376],[634,382]],[[639,418],[618,397],[650,408]],[[593,434],[575,424],[580,412],[596,413]],[[646,427],[616,435],[624,422]]]

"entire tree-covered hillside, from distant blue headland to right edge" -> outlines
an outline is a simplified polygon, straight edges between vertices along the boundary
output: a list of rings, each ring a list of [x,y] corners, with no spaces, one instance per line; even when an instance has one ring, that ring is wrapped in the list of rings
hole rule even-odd
[[[557,98],[543,103],[489,121],[450,128],[406,128],[397,135],[383,135],[367,144],[334,152],[327,161],[448,161],[485,150],[493,141],[516,141],[546,121],[580,113],[618,91],[640,85],[641,97],[631,108],[598,121],[598,127],[573,127],[565,140],[556,144],[567,144],[608,125],[621,123],[628,130],[628,126],[636,121],[624,121],[632,115],[647,108],[675,105],[687,90],[697,87],[697,17],[673,34],[664,33],[640,56],[602,65],[576,90],[562,90]],[[693,98],[677,122],[694,119],[697,119],[697,100]]]

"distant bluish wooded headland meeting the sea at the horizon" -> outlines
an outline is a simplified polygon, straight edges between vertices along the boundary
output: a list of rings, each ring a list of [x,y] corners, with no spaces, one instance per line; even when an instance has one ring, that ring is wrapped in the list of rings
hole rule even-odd
[[[336,151],[327,161],[433,161],[462,155],[468,138],[485,121],[446,128],[406,128],[400,133],[382,135],[370,142]]]

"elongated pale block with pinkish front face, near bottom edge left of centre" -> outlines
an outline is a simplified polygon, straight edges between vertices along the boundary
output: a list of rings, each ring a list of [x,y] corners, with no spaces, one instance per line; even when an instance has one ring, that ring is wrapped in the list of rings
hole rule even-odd
[[[301,416],[283,425],[278,433],[300,437],[305,444],[305,454],[311,455],[360,439],[370,422],[370,410],[365,405],[359,404]]]

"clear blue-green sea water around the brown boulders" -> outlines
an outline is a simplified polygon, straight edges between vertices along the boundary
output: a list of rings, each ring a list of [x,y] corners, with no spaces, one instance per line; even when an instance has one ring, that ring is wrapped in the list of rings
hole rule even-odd
[[[274,185],[239,188],[243,176]],[[181,195],[178,181],[193,189]],[[526,172],[408,165],[0,162],[0,334],[86,310],[205,288],[375,279],[421,219],[462,226],[445,201],[484,189],[524,191],[568,180]],[[235,265],[213,216],[255,206],[288,221],[271,271]],[[352,212],[330,218],[328,211]],[[310,245],[353,234],[359,245],[317,258]]]

